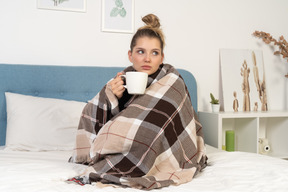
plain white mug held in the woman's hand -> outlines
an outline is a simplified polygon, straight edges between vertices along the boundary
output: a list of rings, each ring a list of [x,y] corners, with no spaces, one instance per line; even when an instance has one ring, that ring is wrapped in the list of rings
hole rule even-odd
[[[144,94],[148,81],[148,74],[144,72],[129,71],[125,75],[126,85],[124,86],[129,94]]]

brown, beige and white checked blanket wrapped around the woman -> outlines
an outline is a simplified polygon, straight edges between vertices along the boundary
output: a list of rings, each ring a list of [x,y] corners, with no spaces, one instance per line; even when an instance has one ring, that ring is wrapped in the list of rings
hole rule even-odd
[[[149,190],[191,181],[206,166],[202,126],[174,67],[162,64],[144,95],[118,105],[107,83],[83,109],[70,162],[89,165],[89,182]]]

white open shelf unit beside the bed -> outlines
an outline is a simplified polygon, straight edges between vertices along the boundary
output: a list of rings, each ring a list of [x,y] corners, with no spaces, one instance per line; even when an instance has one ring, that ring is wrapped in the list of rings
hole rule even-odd
[[[267,155],[288,158],[288,111],[201,112],[205,142],[218,149],[225,145],[225,131],[235,131],[235,150],[259,153],[259,138],[268,139]]]

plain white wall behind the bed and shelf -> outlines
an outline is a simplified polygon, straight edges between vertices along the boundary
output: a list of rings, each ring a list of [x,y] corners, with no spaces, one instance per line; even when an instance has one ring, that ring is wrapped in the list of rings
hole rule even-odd
[[[288,38],[287,0],[135,0],[135,27],[154,13],[166,34],[165,62],[191,71],[199,110],[220,94],[219,49],[261,49],[271,110],[288,109],[288,64],[255,30]],[[87,12],[41,10],[36,0],[0,0],[0,63],[128,66],[132,34],[101,32],[101,1]]]

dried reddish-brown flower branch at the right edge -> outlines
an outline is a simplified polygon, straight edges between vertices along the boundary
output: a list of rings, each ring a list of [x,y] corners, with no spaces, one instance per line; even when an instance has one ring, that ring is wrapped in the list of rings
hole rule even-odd
[[[266,44],[274,43],[274,45],[279,47],[279,51],[275,51],[274,55],[282,55],[283,58],[287,59],[288,61],[288,43],[283,35],[279,38],[279,41],[274,39],[269,33],[265,33],[263,31],[255,31],[253,35],[261,38]],[[285,77],[288,78],[288,73],[285,75]]]

